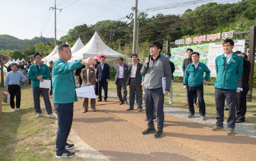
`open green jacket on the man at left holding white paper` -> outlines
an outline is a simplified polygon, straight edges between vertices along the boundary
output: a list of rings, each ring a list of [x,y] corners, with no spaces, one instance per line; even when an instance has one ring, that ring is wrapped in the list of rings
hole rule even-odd
[[[28,78],[31,79],[32,87],[39,87],[40,80],[36,79],[37,76],[42,75],[43,79],[48,79],[50,76],[50,69],[46,64],[42,64],[40,66],[36,65],[36,63],[32,64],[28,69]]]

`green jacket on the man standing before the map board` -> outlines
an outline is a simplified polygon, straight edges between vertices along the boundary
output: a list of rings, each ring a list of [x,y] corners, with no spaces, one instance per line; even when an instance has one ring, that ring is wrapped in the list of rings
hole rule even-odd
[[[206,76],[203,78],[204,72],[206,72]],[[204,63],[198,62],[197,68],[191,63],[187,66],[184,73],[183,85],[189,87],[200,86],[204,79],[206,81],[209,80],[210,73],[210,69]]]

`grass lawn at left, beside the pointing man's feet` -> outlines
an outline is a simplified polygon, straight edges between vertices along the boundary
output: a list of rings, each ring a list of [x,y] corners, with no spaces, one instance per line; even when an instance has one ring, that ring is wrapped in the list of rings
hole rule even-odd
[[[4,91],[4,87],[0,87],[0,91]],[[55,160],[55,138],[58,127],[55,124],[55,119],[35,117],[30,85],[21,86],[20,109],[20,111],[11,111],[9,104],[2,103],[0,160]],[[45,108],[42,110],[44,110],[42,113],[45,116]]]

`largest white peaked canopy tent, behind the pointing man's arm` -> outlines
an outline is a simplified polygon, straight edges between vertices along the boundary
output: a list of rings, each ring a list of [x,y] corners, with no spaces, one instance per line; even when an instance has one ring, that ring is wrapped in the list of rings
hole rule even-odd
[[[75,53],[72,53],[71,60],[75,61],[78,59],[94,57],[100,54],[104,54],[106,56],[105,63],[109,64],[110,66],[114,66],[115,64],[117,64],[118,57],[123,57],[127,59],[126,55],[114,51],[113,49],[108,47],[101,40],[97,32],[95,32],[90,41],[82,49],[76,51]]]

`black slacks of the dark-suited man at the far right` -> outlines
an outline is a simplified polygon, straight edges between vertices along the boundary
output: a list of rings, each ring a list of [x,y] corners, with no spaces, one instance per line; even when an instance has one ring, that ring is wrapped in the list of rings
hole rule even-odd
[[[236,118],[240,120],[245,120],[245,113],[247,110],[246,107],[246,95],[248,93],[248,89],[243,88],[243,91],[236,93]]]

